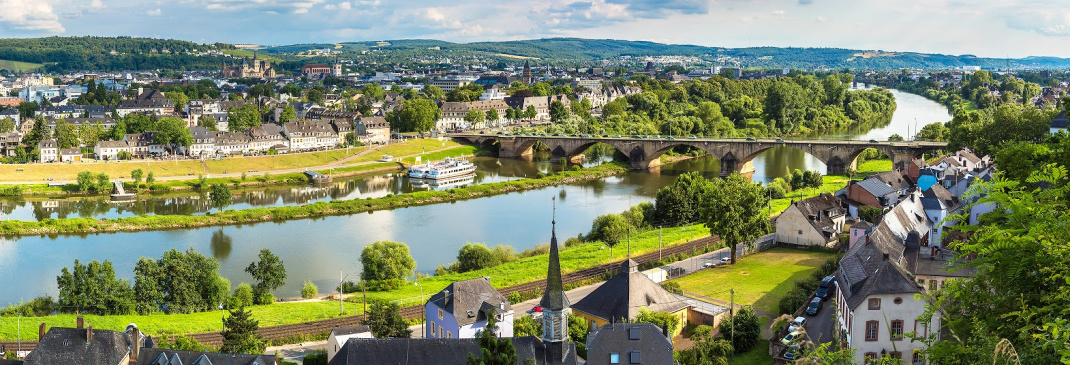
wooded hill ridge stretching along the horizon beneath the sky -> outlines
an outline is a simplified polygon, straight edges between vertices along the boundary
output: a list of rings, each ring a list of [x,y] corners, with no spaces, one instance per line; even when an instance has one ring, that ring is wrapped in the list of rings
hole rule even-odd
[[[232,45],[197,44],[178,40],[105,36],[49,36],[39,39],[0,39],[0,60],[45,64],[46,72],[72,71],[140,71],[140,70],[212,70],[224,60],[203,55],[208,50],[226,50]],[[486,55],[499,60],[507,57],[530,57],[554,62],[594,63],[602,59],[646,56],[687,56],[707,64],[742,65],[744,67],[791,67],[802,70],[852,69],[899,70],[980,66],[982,69],[1067,69],[1070,59],[1026,57],[1021,59],[980,58],[972,55],[938,55],[883,50],[808,47],[725,48],[697,45],[663,44],[643,41],[592,40],[552,37],[525,41],[453,43],[438,40],[361,41],[342,43],[294,44],[257,49],[287,61],[325,61],[325,58],[297,57],[297,52],[331,49],[346,52],[368,49],[396,50],[400,55],[430,55],[434,51]],[[356,55],[351,55],[356,56]],[[331,58],[334,58],[332,56]],[[728,61],[728,62],[721,62]],[[293,62],[288,62],[293,63]]]

